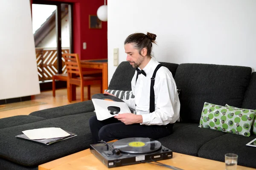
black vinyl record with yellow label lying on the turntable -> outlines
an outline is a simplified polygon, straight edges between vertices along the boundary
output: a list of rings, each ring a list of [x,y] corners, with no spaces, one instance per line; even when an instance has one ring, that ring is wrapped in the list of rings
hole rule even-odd
[[[113,143],[113,147],[121,153],[148,154],[160,150],[161,143],[150,138],[125,138]]]

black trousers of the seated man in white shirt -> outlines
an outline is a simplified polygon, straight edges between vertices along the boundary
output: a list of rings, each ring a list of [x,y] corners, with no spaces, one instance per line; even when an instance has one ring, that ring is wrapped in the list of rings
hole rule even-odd
[[[99,121],[96,116],[89,119],[93,143],[103,140],[109,142],[114,139],[143,137],[159,139],[172,133],[173,124],[168,125],[125,125],[114,117]]]

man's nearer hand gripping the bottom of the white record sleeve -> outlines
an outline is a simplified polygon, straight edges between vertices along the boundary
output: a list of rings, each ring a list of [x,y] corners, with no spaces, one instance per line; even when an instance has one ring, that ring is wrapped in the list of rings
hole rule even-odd
[[[143,119],[141,115],[136,115],[133,113],[122,113],[118,114],[117,116],[114,116],[114,118],[120,120],[125,125],[131,125],[134,123],[142,123]]]

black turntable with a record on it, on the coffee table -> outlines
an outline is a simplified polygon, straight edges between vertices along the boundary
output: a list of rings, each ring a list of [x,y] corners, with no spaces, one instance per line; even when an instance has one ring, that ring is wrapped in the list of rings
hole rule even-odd
[[[91,144],[93,153],[107,167],[120,167],[172,158],[172,150],[149,138],[125,138],[116,142]]]

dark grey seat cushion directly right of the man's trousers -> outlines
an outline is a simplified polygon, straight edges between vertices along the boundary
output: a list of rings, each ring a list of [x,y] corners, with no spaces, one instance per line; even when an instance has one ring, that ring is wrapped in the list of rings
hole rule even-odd
[[[175,123],[173,133],[158,141],[174,152],[197,156],[203,144],[224,134],[226,133],[200,128],[198,124]]]

